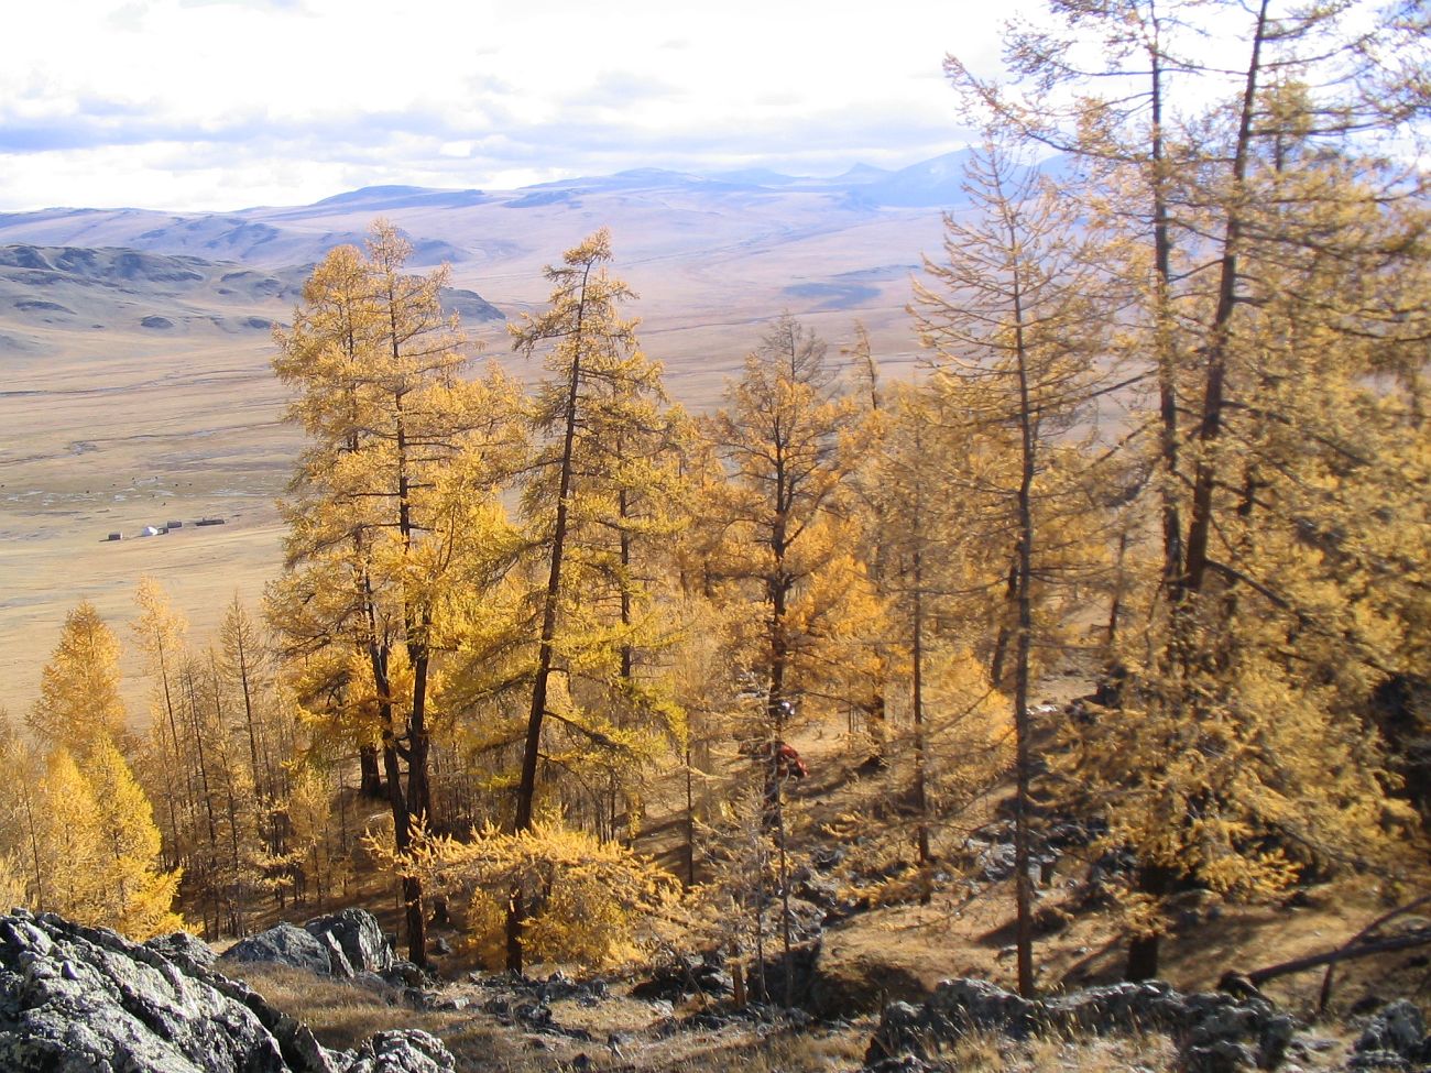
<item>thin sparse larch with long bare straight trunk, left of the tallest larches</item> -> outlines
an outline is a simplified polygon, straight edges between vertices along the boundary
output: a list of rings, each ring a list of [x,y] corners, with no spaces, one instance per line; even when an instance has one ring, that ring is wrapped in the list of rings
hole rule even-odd
[[[996,687],[1007,678],[1012,695],[1017,976],[1020,994],[1032,996],[1029,695],[1035,652],[1056,637],[1050,615],[1036,614],[1037,589],[1069,567],[1050,549],[1069,539],[1068,515],[1086,508],[1086,478],[1069,462],[1075,436],[1096,456],[1079,425],[1095,426],[1093,402],[1109,389],[1098,365],[1109,273],[1102,237],[1079,226],[1076,206],[992,133],[970,160],[966,189],[972,213],[946,216],[944,256],[926,262],[932,283],[916,283],[914,316],[933,351],[940,416],[963,439],[949,492],[962,524],[982,529],[989,587],[1005,589],[989,677]]]

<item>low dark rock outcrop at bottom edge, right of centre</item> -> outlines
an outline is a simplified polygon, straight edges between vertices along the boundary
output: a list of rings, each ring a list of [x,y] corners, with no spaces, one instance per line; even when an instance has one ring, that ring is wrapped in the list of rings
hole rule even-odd
[[[936,1053],[970,1032],[1012,1039],[1035,1033],[1112,1034],[1165,1032],[1189,1073],[1239,1067],[1272,1069],[1282,1060],[1295,1021],[1265,999],[1179,994],[1161,980],[1090,987],[1045,1001],[1020,999],[986,980],[944,980],[920,1006],[892,1003],[866,1052],[866,1064]]]

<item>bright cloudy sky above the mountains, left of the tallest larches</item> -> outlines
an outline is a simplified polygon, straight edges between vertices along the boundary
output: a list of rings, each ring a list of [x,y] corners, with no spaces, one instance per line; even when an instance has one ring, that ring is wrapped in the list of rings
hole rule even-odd
[[[40,0],[6,13],[0,210],[230,210],[960,147],[957,0]]]

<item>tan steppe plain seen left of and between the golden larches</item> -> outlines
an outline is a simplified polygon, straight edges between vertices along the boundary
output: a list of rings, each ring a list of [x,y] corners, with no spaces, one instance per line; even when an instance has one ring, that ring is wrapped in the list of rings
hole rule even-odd
[[[454,285],[471,288],[515,316],[541,302],[541,266],[600,226],[588,212],[507,213],[509,226],[531,225],[514,250],[454,266]],[[645,213],[643,213],[645,215]],[[501,217],[499,217],[501,219]],[[406,220],[422,233],[429,220]],[[326,220],[366,226],[366,219]],[[504,220],[507,223],[507,220]],[[937,242],[937,217],[873,220],[849,229],[801,222],[746,233],[713,225],[716,237],[693,240],[661,230],[657,217],[614,227],[617,272],[640,295],[630,312],[643,319],[645,349],[665,362],[671,396],[693,411],[718,405],[727,378],[764,325],[788,308],[831,345],[847,345],[856,319],[870,330],[881,371],[909,375],[916,361],[903,306],[907,268]],[[734,229],[726,237],[723,227]],[[458,235],[456,239],[467,236]],[[622,239],[625,245],[622,246]],[[504,239],[505,242],[505,239]],[[474,239],[481,249],[481,243]],[[628,252],[627,252],[628,250]],[[877,298],[853,308],[821,309],[784,288],[847,272],[874,270]],[[153,306],[153,299],[146,302]],[[92,601],[123,642],[135,617],[133,594],[145,575],[169,589],[206,642],[238,592],[258,609],[263,585],[280,569],[282,494],[299,432],[282,423],[283,389],[272,378],[272,342],[263,332],[232,333],[202,323],[202,306],[172,330],[50,329],[31,335],[41,348],[6,358],[0,389],[0,675],[3,704],[23,717],[39,694],[40,668],[64,615]],[[232,306],[216,315],[232,316]],[[260,310],[283,320],[288,303]],[[4,328],[0,323],[0,328]],[[469,325],[488,359],[522,379],[535,363],[509,353],[501,323]],[[193,528],[202,516],[223,526]],[[167,535],[137,538],[145,525],[185,521]],[[109,532],[123,532],[107,542]],[[124,700],[132,718],[147,715],[147,681],[126,651]]]

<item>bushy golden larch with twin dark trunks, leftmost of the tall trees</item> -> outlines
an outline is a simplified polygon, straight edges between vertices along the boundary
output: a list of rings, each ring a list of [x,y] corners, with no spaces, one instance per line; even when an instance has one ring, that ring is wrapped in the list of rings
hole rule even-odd
[[[373,226],[366,256],[335,249],[278,333],[290,419],[312,445],[286,505],[288,569],[270,592],[305,705],[381,758],[399,853],[432,814],[446,592],[494,554],[511,385],[464,379],[468,346],[442,312],[446,270],[405,272],[408,242]],[[373,773],[366,773],[368,781]],[[409,957],[426,963],[422,887],[404,877]]]

